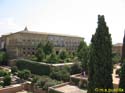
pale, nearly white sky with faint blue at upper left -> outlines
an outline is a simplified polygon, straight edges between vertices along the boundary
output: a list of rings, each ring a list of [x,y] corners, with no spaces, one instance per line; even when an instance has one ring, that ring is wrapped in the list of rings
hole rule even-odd
[[[122,42],[124,0],[0,0],[0,35],[23,30],[82,36],[87,43],[105,15],[113,43]]]

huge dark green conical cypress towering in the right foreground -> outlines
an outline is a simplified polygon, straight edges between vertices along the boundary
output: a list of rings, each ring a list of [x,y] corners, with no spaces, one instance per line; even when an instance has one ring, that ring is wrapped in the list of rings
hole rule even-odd
[[[90,50],[88,93],[105,93],[95,91],[96,88],[113,88],[112,41],[103,15],[98,15],[98,27],[92,36]]]

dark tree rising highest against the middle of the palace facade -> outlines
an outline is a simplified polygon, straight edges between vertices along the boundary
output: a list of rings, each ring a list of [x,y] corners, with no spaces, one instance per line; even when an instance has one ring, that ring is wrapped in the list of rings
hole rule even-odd
[[[49,55],[53,52],[53,44],[48,41],[44,46],[44,53],[45,55]]]

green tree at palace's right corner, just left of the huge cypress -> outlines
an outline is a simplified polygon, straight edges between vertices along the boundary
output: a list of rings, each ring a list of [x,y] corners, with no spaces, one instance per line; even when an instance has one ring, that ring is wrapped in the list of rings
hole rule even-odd
[[[87,71],[88,64],[88,53],[89,49],[85,41],[81,41],[77,50],[77,56],[79,61],[81,61],[84,71]]]

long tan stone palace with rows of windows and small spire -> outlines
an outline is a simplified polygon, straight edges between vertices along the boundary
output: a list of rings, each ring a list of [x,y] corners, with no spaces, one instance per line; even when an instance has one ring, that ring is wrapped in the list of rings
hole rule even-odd
[[[0,38],[0,48],[6,50],[9,58],[24,58],[34,55],[36,46],[40,42],[52,42],[56,52],[62,49],[75,52],[82,40],[84,38],[77,36],[29,31],[25,27],[22,31],[2,35]]]

